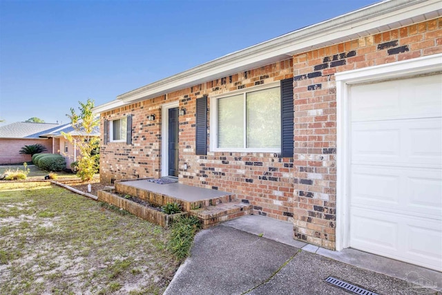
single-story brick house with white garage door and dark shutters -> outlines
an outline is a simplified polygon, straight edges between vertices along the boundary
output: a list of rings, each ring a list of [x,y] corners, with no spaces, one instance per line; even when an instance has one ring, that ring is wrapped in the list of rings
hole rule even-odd
[[[177,176],[441,271],[441,15],[383,1],[119,95],[95,108],[100,177]]]

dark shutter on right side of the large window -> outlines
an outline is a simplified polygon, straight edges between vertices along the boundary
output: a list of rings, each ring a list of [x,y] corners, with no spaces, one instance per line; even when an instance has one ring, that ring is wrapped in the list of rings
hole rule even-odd
[[[281,157],[292,158],[294,152],[293,79],[281,80]]]

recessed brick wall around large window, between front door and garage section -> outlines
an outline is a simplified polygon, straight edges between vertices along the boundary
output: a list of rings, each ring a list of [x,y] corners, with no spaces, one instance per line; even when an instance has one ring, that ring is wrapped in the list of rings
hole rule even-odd
[[[247,90],[256,85],[267,84],[292,77],[291,59],[207,82],[200,87],[198,95],[190,93],[180,102],[191,110],[186,114],[187,124],[180,130],[180,180],[197,187],[219,189],[236,193],[240,200],[253,204],[255,214],[288,220],[293,216],[293,178],[291,159],[280,158],[275,153],[226,153],[208,151],[206,156],[195,155],[195,99],[203,94],[209,96],[228,93],[238,89]],[[190,99],[189,99],[190,98]],[[187,100],[189,99],[189,100]],[[209,118],[210,122],[210,102]],[[180,119],[181,120],[181,119]],[[210,124],[209,133],[210,133]],[[208,134],[209,137],[209,134]],[[208,143],[209,144],[209,143]],[[183,165],[187,164],[187,169]]]

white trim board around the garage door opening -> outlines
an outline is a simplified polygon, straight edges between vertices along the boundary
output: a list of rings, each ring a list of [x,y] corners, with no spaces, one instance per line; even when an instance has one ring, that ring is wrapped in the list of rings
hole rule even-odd
[[[349,247],[348,86],[442,71],[442,54],[336,73],[336,250]]]

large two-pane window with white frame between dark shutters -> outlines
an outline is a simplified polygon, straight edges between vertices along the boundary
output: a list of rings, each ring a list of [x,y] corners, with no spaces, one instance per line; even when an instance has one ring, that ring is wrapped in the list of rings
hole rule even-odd
[[[211,121],[215,124],[215,136],[211,138],[213,151],[280,152],[280,87],[216,97],[212,102],[215,104],[215,119]]]

